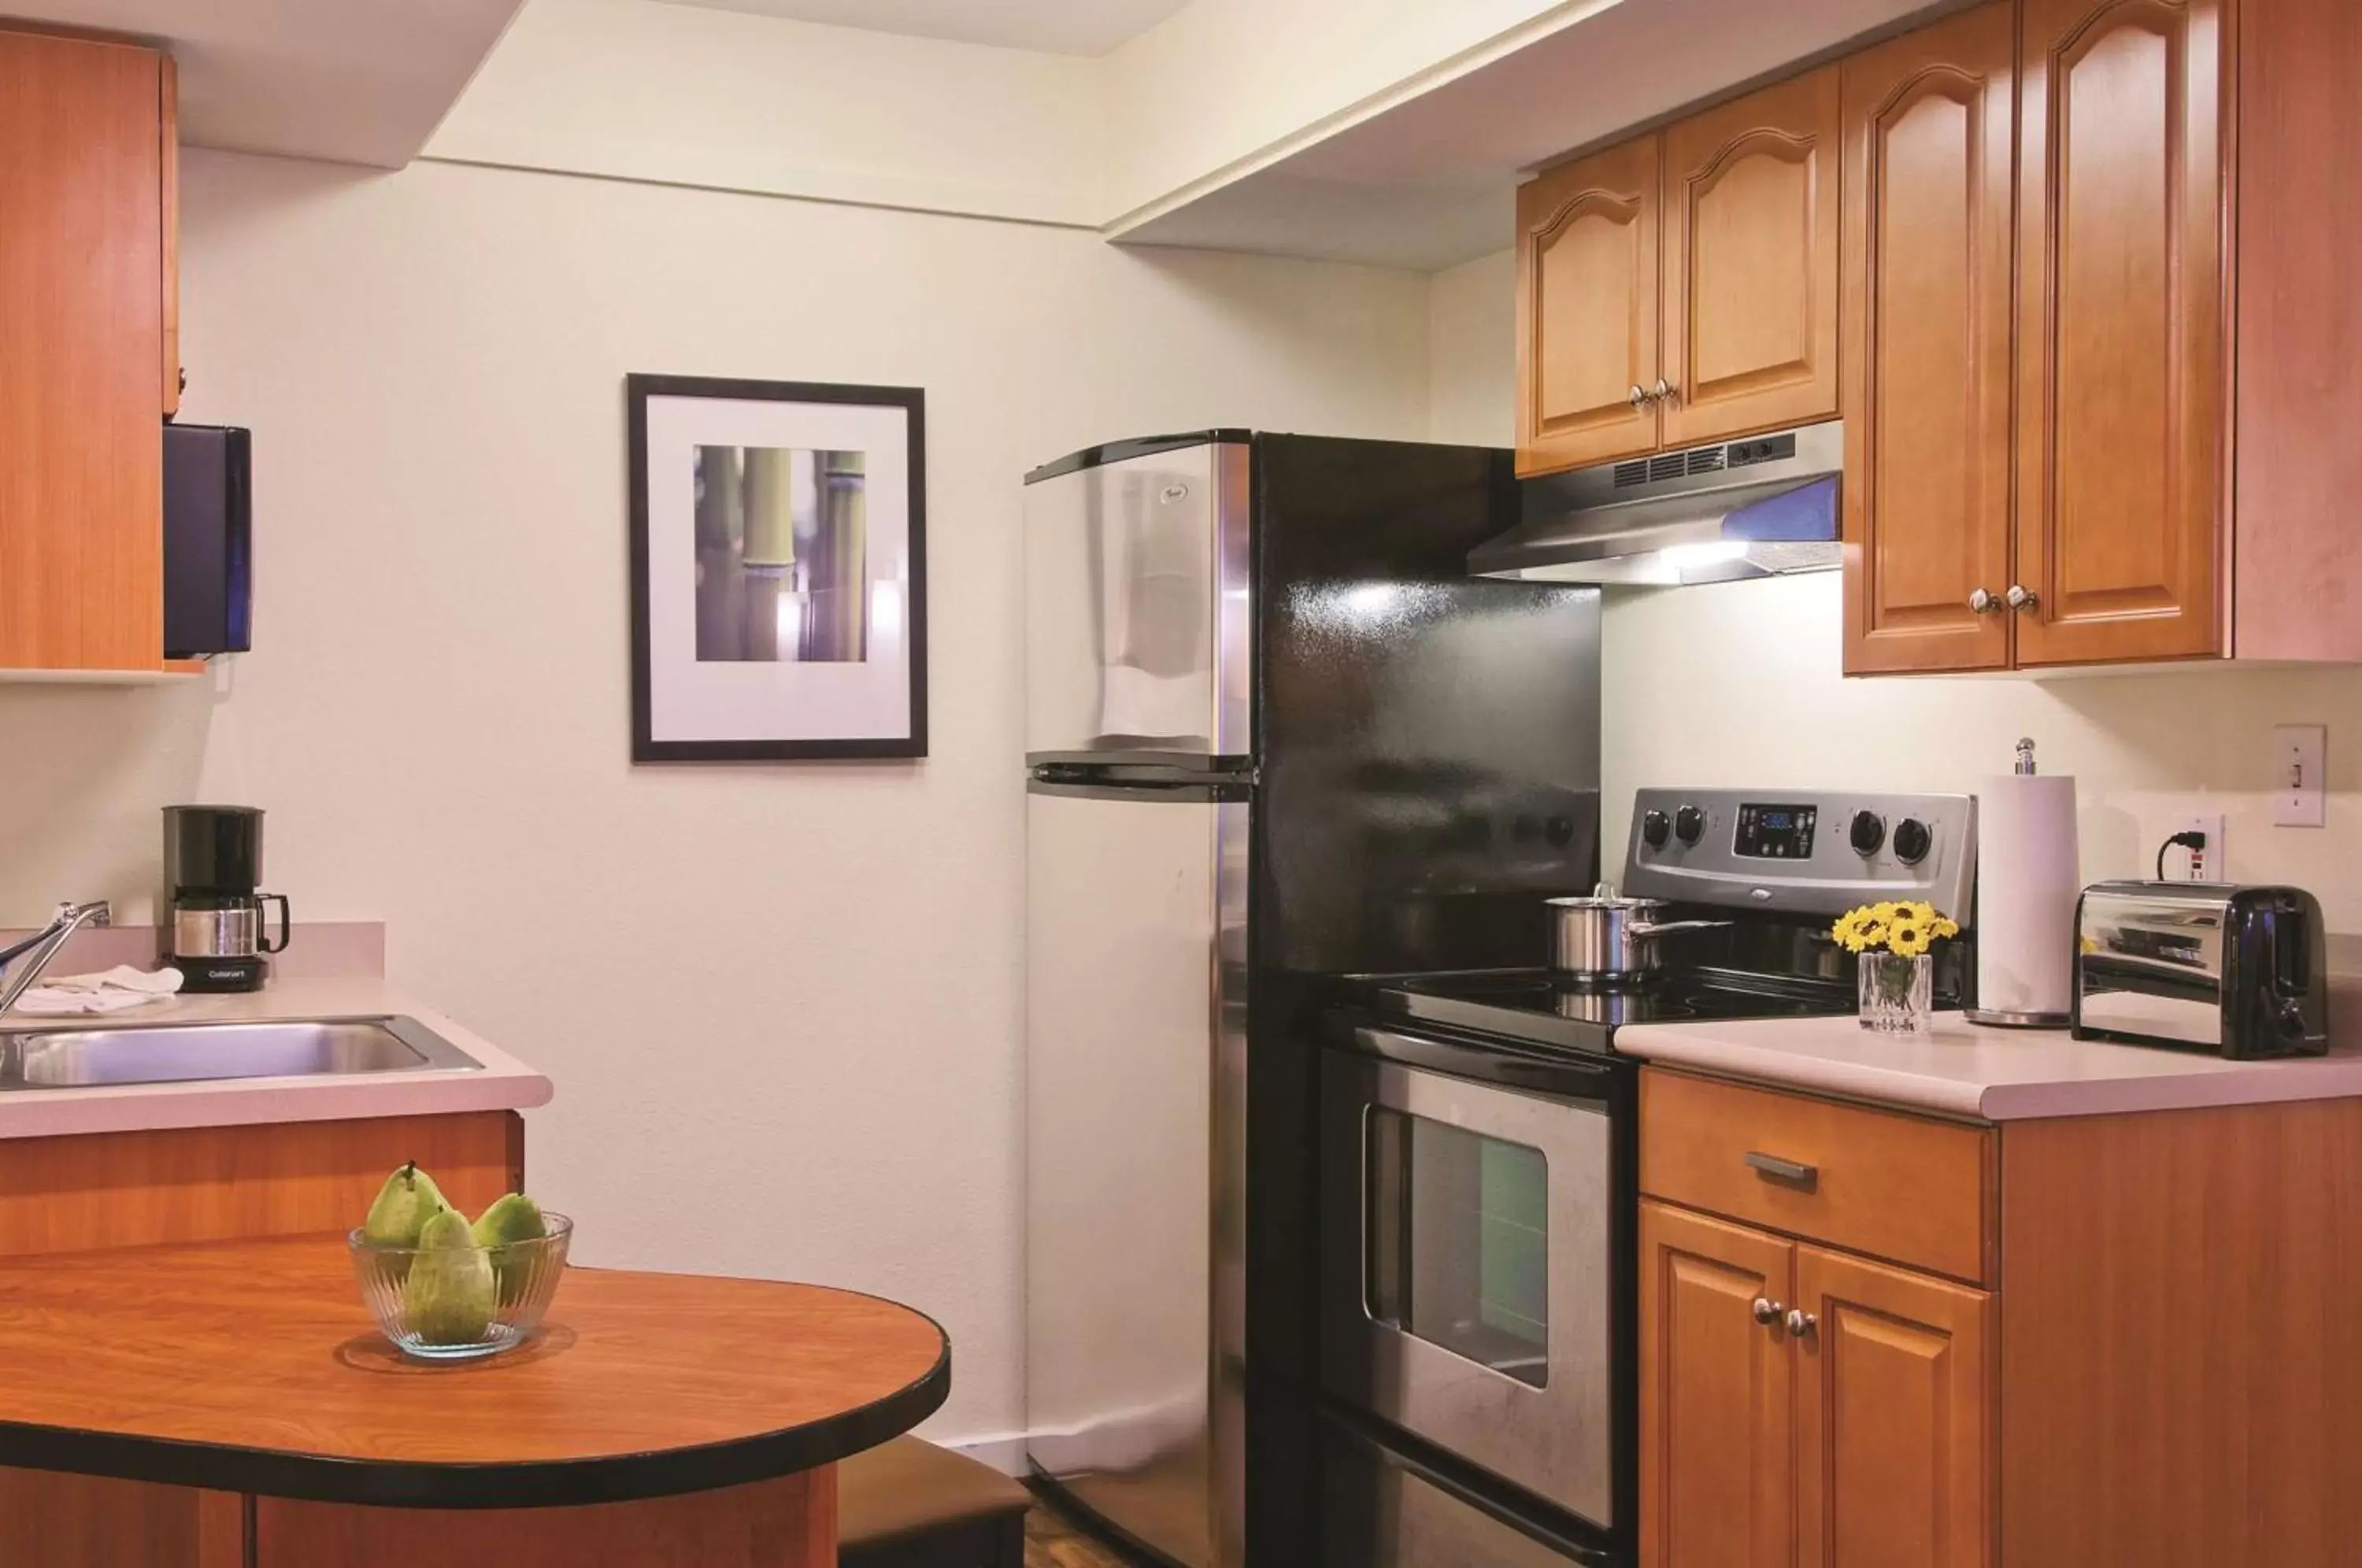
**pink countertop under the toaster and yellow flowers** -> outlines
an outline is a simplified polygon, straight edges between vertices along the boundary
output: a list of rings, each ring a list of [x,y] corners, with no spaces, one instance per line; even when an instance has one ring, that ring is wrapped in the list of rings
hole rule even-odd
[[[2336,982],[2331,1015],[2362,1023],[2362,989]],[[2357,1030],[2329,1056],[2272,1063],[2112,1046],[2067,1030],[1986,1030],[1958,1013],[1937,1013],[1934,1034],[1916,1044],[1871,1034],[1854,1018],[1762,1018],[1630,1025],[1616,1030],[1616,1048],[1668,1067],[1982,1122],[2362,1096]]]

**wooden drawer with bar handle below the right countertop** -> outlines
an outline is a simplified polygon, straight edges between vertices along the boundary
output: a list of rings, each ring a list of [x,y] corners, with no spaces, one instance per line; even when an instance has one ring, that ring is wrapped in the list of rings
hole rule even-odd
[[[1991,1129],[1642,1072],[1642,1193],[1956,1280],[1986,1278],[1991,1155]]]

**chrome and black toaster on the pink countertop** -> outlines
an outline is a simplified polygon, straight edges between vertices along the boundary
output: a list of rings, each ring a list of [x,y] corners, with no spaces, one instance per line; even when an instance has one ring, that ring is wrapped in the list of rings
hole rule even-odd
[[[2076,904],[2074,1037],[2324,1056],[2329,954],[2303,888],[2121,881]]]

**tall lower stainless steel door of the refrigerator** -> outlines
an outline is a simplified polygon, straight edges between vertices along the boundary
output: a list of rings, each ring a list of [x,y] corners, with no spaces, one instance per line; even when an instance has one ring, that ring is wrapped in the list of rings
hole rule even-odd
[[[1242,1561],[1247,805],[1025,801],[1027,1457],[1186,1568]]]

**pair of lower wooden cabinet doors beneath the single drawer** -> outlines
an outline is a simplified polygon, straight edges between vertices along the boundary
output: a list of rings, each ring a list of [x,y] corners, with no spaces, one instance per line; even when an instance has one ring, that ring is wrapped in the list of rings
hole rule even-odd
[[[1642,1568],[1979,1568],[1982,1289],[1644,1200]]]

